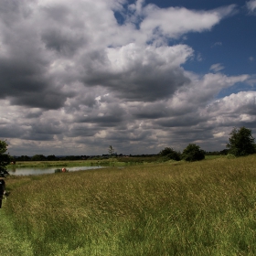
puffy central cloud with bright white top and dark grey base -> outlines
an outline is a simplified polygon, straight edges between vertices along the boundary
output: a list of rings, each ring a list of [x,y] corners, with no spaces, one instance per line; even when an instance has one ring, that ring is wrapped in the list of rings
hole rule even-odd
[[[179,64],[191,54],[187,46],[155,50],[130,44],[117,50],[109,48],[84,57],[83,82],[107,87],[116,97],[128,101],[165,99],[190,82]]]

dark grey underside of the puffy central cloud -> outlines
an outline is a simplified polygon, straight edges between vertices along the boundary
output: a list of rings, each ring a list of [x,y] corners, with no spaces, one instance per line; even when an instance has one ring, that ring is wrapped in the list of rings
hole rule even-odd
[[[94,74],[95,79],[86,80],[87,84],[108,87],[117,98],[128,101],[157,101],[166,99],[176,89],[189,83],[182,69],[161,72],[157,67],[134,67],[120,75]]]

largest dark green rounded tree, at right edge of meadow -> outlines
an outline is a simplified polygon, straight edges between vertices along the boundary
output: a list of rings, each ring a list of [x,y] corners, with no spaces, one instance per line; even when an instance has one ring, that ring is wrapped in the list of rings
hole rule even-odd
[[[229,135],[229,143],[227,144],[229,154],[242,156],[255,153],[254,138],[250,129],[244,126],[240,127],[240,129],[234,128]]]

